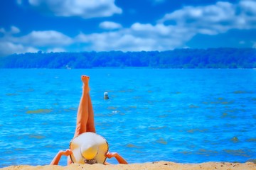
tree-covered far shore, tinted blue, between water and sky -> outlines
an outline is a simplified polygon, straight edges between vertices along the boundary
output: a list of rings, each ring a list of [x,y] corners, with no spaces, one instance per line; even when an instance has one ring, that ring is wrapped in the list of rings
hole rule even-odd
[[[141,52],[49,52],[0,57],[0,68],[88,69],[97,67],[256,68],[255,48],[176,49]]]

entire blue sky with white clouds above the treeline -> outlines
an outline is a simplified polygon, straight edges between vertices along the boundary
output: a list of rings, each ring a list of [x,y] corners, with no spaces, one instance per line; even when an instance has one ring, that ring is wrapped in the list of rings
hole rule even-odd
[[[0,0],[0,56],[256,47],[256,0]]]

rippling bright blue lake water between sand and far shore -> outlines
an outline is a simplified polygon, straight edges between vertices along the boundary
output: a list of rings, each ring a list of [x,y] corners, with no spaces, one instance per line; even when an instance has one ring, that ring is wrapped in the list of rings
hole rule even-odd
[[[68,148],[82,74],[97,133],[129,163],[256,159],[255,69],[0,69],[0,167]]]

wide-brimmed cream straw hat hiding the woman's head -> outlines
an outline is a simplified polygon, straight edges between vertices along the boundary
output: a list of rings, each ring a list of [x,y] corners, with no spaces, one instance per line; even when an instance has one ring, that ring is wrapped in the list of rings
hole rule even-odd
[[[70,142],[70,159],[78,164],[104,164],[108,152],[107,140],[94,132],[85,132]]]

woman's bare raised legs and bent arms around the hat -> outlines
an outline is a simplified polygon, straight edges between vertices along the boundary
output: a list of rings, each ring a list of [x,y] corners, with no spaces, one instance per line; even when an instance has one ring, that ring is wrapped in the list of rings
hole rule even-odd
[[[77,123],[75,128],[75,137],[78,137],[78,135],[81,135],[84,132],[96,132],[95,130],[95,123],[94,123],[94,113],[92,110],[92,101],[90,98],[90,88],[89,88],[89,79],[90,77],[82,76],[82,96],[80,99],[80,104],[78,107],[78,115],[77,115]],[[62,155],[65,155],[68,157],[68,164],[73,163],[69,156],[73,154],[72,150],[66,149],[65,151],[59,151],[58,154],[53,158],[53,161],[50,163],[52,165],[58,165],[58,162],[60,161],[60,158]],[[105,154],[105,157],[107,158],[116,158],[117,162],[119,164],[128,164],[127,161],[121,157],[116,152],[107,152]],[[105,162],[104,164],[108,164]]]

